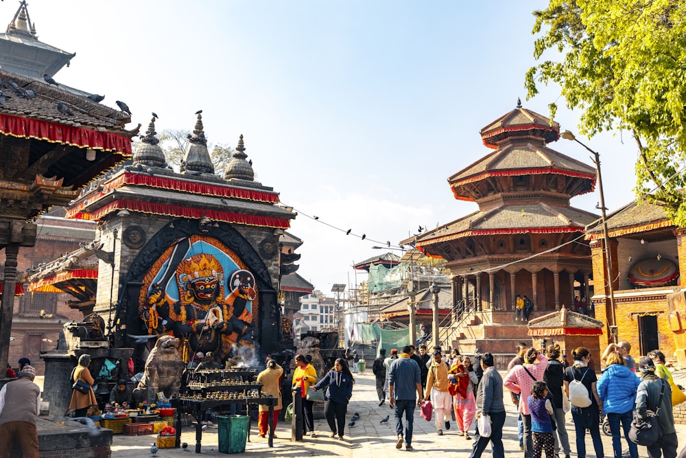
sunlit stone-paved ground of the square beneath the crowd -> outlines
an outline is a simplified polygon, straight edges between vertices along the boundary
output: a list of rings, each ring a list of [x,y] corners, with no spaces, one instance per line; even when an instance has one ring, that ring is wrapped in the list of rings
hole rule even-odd
[[[246,445],[246,455],[253,457],[281,456],[281,457],[355,457],[355,458],[383,458],[391,453],[410,454],[415,457],[467,457],[473,444],[473,440],[466,440],[456,433],[456,424],[451,422],[450,431],[443,431],[444,435],[436,435],[434,422],[426,422],[416,411],[414,420],[414,450],[407,452],[396,450],[394,424],[392,411],[388,404],[378,407],[374,377],[372,375],[356,376],[357,383],[353,391],[353,400],[348,407],[348,418],[354,412],[361,417],[353,428],[346,427],[345,442],[329,439],[329,426],[326,420],[315,420],[315,428],[319,435],[316,438],[306,437],[303,442],[291,442],[289,424],[279,423],[276,428],[277,439],[274,439],[274,448],[268,448],[267,440],[257,435],[257,424],[252,425],[250,439]],[[517,442],[517,415],[514,406],[506,402],[508,410],[507,421],[504,428],[504,445],[506,457],[522,457]],[[391,414],[387,424],[380,424],[381,418]],[[567,431],[572,437],[572,457],[576,457],[573,444],[573,424],[571,415],[567,415]],[[677,435],[681,447],[686,445],[686,426],[677,425]],[[150,446],[154,444],[154,435],[149,436],[125,436],[115,435],[112,446],[113,457],[144,457],[150,455]],[[185,428],[182,433],[182,442],[189,444],[188,450],[162,449],[157,453],[158,457],[192,457],[195,455],[195,433],[190,428]],[[603,435],[606,457],[612,456],[611,437]],[[626,444],[624,444],[626,448]],[[680,448],[681,448],[680,447]],[[211,426],[202,435],[202,456],[226,456],[219,452],[217,428]],[[484,457],[492,456],[490,448],[486,449]],[[647,457],[646,448],[639,447],[639,457]],[[595,457],[590,437],[587,437],[587,457]],[[597,458],[597,457],[596,457]]]

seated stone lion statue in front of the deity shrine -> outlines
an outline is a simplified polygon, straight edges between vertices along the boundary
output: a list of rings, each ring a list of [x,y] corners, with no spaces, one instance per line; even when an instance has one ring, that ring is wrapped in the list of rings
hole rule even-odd
[[[134,389],[137,402],[147,401],[147,404],[157,402],[157,393],[165,396],[178,394],[181,386],[181,376],[185,365],[179,354],[180,341],[174,336],[161,336],[155,347],[147,356],[143,378]]]

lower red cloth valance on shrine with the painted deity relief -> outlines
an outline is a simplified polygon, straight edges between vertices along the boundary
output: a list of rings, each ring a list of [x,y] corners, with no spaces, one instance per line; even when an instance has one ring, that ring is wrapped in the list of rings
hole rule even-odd
[[[141,213],[150,213],[155,215],[178,216],[181,218],[210,218],[215,221],[224,221],[248,226],[259,227],[273,227],[274,229],[288,229],[290,227],[289,220],[282,218],[269,218],[268,216],[244,215],[239,213],[231,213],[229,211],[217,211],[208,209],[199,209],[192,207],[178,207],[176,205],[165,205],[150,202],[138,202],[121,199],[108,203],[102,208],[93,211],[93,213],[78,213],[67,215],[71,218],[82,220],[100,220],[106,214],[114,211],[129,210],[141,211]]]

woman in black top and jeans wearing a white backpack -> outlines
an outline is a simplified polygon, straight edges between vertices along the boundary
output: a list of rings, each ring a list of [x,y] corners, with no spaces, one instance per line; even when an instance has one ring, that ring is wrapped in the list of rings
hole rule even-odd
[[[596,457],[604,457],[600,437],[600,396],[595,385],[598,378],[589,367],[591,352],[578,347],[572,352],[574,363],[565,369],[565,396],[571,402],[571,419],[576,430],[576,453],[578,458],[586,458],[586,430],[591,433]]]

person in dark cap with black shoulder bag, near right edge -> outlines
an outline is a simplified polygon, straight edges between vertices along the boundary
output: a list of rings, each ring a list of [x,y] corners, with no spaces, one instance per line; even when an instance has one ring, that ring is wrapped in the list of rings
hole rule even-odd
[[[678,440],[676,429],[674,428],[674,413],[672,412],[672,388],[667,380],[659,378],[655,374],[655,363],[648,356],[643,356],[639,361],[639,371],[641,372],[641,383],[636,391],[636,417],[637,420],[645,422],[648,420],[646,411],[657,412],[657,419],[662,430],[662,435],[648,449],[648,458],[676,457]],[[665,392],[662,402],[658,405],[660,392]],[[659,409],[659,411],[658,411]]]

